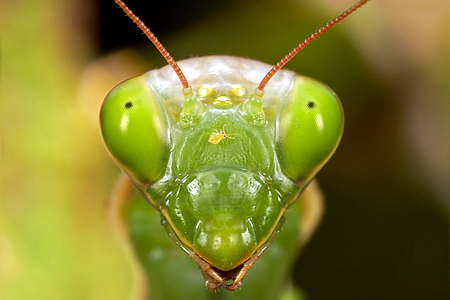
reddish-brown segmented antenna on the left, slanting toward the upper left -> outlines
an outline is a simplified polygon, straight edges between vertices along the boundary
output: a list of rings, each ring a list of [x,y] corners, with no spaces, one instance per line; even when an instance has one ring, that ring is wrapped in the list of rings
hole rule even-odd
[[[183,85],[183,94],[184,95],[190,95],[192,93],[192,89],[184,76],[183,72],[181,71],[180,67],[178,66],[177,62],[173,59],[173,57],[170,55],[170,53],[164,48],[164,46],[161,44],[161,42],[158,40],[158,38],[153,34],[153,32],[150,31],[150,29],[145,26],[144,22],[141,21],[141,19],[136,16],[131,9],[126,6],[126,4],[122,0],[114,0],[117,5],[125,12],[125,14],[133,20],[133,22],[142,30],[142,32],[148,37],[148,39],[155,45],[156,49],[158,49],[159,53],[164,57],[164,59],[167,61],[167,63],[172,67],[172,69],[177,74],[178,78],[181,81],[181,84]]]

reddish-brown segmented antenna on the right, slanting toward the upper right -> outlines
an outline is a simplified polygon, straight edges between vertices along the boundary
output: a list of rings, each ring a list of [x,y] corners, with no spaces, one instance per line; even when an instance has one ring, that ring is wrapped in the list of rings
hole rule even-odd
[[[311,34],[308,38],[306,38],[303,42],[301,42],[297,47],[292,49],[291,52],[289,52],[285,57],[283,57],[275,66],[270,69],[269,72],[267,72],[266,76],[264,76],[263,80],[259,84],[258,88],[255,91],[255,94],[258,96],[264,95],[264,88],[266,87],[267,83],[270,79],[277,73],[286,63],[288,63],[297,53],[299,53],[303,48],[308,46],[312,41],[317,39],[319,36],[327,32],[329,29],[331,29],[334,25],[340,23],[345,18],[347,18],[351,13],[353,13],[355,10],[363,6],[366,2],[369,0],[361,0],[346,11],[344,11],[341,15],[336,17],[335,19],[331,20],[324,26],[322,26],[319,30],[316,30],[313,34]]]

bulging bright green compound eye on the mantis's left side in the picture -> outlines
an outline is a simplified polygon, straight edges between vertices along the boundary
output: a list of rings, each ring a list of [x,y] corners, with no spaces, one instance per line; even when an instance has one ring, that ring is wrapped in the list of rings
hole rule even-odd
[[[100,112],[103,140],[120,167],[140,185],[162,176],[169,157],[168,121],[143,76],[116,86]]]

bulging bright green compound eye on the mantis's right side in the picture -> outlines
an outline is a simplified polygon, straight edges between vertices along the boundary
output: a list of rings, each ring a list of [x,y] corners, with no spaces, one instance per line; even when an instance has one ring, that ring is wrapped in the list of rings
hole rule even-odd
[[[277,119],[276,147],[282,171],[302,182],[311,179],[337,148],[344,125],[334,92],[308,77],[297,77]]]

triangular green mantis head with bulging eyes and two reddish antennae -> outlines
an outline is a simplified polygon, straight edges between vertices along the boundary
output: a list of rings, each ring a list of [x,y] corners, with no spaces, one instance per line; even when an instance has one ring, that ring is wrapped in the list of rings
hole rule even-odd
[[[169,236],[200,267],[209,289],[241,287],[282,230],[289,208],[338,146],[343,111],[337,96],[314,79],[280,69],[367,1],[327,23],[271,68],[230,56],[177,64],[116,0],[170,66],[129,79],[108,94],[100,116],[103,139],[160,213]],[[292,218],[299,218],[297,210]],[[285,230],[294,239],[298,234]],[[291,248],[296,245],[292,241]],[[268,277],[282,265],[271,257],[272,267],[264,269]],[[182,272],[172,280],[183,281]]]

